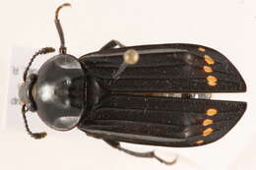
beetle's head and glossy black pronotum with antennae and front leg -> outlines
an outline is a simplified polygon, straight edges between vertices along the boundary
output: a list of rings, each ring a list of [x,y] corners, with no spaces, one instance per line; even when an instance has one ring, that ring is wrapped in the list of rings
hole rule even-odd
[[[38,75],[28,76],[35,57],[54,52],[55,49],[46,47],[36,52],[24,72],[24,83],[19,89],[25,126],[34,139],[41,139],[46,133],[31,132],[26,118],[28,111],[36,111],[46,125],[59,131],[74,128],[83,113],[84,105],[80,102],[83,101],[84,94],[80,94],[79,91],[84,87],[84,72],[78,59],[66,53],[64,34],[58,19],[59,11],[66,6],[70,4],[59,6],[55,12],[55,26],[60,37],[60,54],[45,62]]]

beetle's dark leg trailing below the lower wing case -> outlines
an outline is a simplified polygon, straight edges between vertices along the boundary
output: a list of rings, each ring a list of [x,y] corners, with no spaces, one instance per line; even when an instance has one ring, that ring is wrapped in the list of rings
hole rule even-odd
[[[177,161],[177,158],[175,158],[171,161],[163,160],[159,156],[156,155],[155,151],[137,152],[137,151],[129,150],[127,148],[122,147],[120,142],[114,142],[114,141],[108,141],[108,140],[103,140],[103,141],[118,150],[124,151],[125,153],[136,156],[136,157],[156,158],[161,163],[164,163],[166,165],[172,165],[172,164],[176,163],[176,161]]]

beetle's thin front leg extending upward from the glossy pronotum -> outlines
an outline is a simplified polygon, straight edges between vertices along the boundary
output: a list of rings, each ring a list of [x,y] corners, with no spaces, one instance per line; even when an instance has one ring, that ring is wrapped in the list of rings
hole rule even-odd
[[[71,7],[71,4],[69,3],[65,3],[62,4],[61,6],[59,6],[55,12],[55,26],[58,30],[59,33],[59,37],[60,37],[60,48],[59,48],[59,52],[60,54],[66,54],[67,52],[67,48],[65,47],[65,39],[64,39],[64,33],[63,30],[61,28],[61,24],[59,21],[59,11],[63,8],[63,7]]]

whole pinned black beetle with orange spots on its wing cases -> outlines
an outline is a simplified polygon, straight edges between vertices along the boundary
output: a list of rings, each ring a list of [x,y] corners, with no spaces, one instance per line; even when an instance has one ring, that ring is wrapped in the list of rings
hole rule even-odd
[[[19,90],[26,113],[37,112],[50,128],[75,127],[88,136],[139,157],[120,142],[190,147],[216,142],[238,122],[246,102],[211,99],[211,93],[244,92],[246,85],[236,68],[219,51],[197,44],[170,43],[125,46],[111,40],[98,51],[79,59],[67,53],[64,34],[55,13],[61,46],[38,74],[28,72],[37,55],[54,52],[42,48],[32,56]]]

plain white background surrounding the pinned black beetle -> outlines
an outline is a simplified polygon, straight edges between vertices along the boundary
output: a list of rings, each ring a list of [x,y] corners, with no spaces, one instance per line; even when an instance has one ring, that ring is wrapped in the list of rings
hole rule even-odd
[[[29,62],[33,51],[45,46],[58,48],[53,18],[64,1],[14,1],[0,6],[0,167],[1,169],[255,169],[256,114],[256,2],[242,0],[73,0],[60,19],[68,52],[77,57],[98,50],[110,39],[126,45],[196,43],[213,47],[236,66],[247,83],[242,94],[216,98],[244,100],[248,109],[238,124],[220,141],[193,148],[157,147],[180,159],[171,167],[156,160],[135,158],[110,148],[78,130],[54,132],[36,116],[33,130],[46,130],[45,140],[34,141],[24,130],[19,107],[7,112],[11,65]],[[66,2],[66,1],[65,1]],[[15,51],[14,51],[15,50]],[[14,55],[15,54],[15,55]],[[24,56],[26,54],[26,56]],[[17,55],[17,56],[16,56]],[[28,55],[28,56],[27,56]],[[11,57],[17,58],[11,63]],[[46,58],[46,57],[45,57]],[[42,61],[42,59],[40,59]],[[39,63],[37,63],[39,64]],[[18,83],[16,83],[18,84]],[[15,91],[13,89],[12,91]],[[10,93],[9,93],[10,94]],[[14,120],[7,119],[17,115]],[[33,115],[32,115],[33,116]],[[7,121],[8,120],[8,121]],[[35,122],[34,122],[35,121]],[[137,150],[153,146],[126,144]]]

